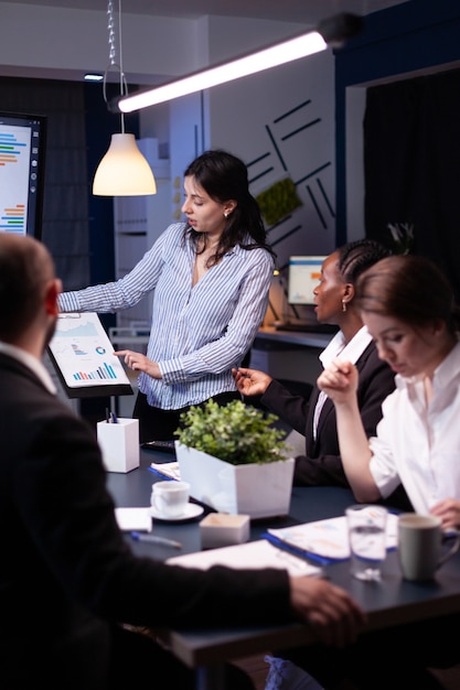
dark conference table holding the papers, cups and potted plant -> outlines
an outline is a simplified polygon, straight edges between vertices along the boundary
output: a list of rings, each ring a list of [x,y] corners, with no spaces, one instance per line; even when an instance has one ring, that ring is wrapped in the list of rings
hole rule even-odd
[[[171,462],[172,455],[141,450],[140,466],[127,474],[108,473],[108,488],[118,507],[148,507],[152,484],[161,476],[150,464]],[[341,487],[293,487],[289,515],[252,520],[250,540],[257,540],[267,528],[281,528],[299,522],[339,517],[355,503],[353,494]],[[204,506],[204,515],[212,511]],[[153,520],[153,533],[180,541],[182,548],[130,540],[141,556],[167,560],[171,556],[201,550],[199,522],[203,515],[184,522]],[[172,552],[173,551],[173,552]],[[346,589],[367,613],[366,630],[385,628],[432,616],[460,612],[460,552],[443,564],[436,579],[411,583],[402,578],[397,553],[389,551],[381,582],[361,582],[350,574],[347,561],[324,567],[331,582]],[[263,627],[220,629],[167,629],[159,632],[162,642],[185,665],[195,669],[197,690],[223,688],[223,664],[269,650],[308,645],[314,637],[301,623]]]

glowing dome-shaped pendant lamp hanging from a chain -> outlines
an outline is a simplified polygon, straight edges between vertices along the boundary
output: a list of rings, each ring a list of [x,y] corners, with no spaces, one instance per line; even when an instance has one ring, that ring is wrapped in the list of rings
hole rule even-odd
[[[116,39],[114,3],[107,3],[108,15],[108,43],[109,66],[104,75],[104,99],[107,101],[107,74],[115,68],[119,73],[120,96],[126,96],[128,88],[122,71],[121,58],[121,0],[118,0],[118,35],[119,35],[119,63],[116,62]],[[157,184],[152,169],[139,151],[133,134],[125,132],[125,117],[121,114],[121,132],[111,134],[110,145],[104,155],[93,181],[93,194],[96,196],[142,196],[157,194]]]

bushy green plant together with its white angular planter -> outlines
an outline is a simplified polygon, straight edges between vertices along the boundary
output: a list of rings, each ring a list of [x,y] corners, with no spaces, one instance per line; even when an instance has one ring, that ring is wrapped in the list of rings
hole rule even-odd
[[[293,459],[275,414],[234,400],[208,400],[181,417],[175,452],[191,495],[220,513],[253,518],[287,515]]]

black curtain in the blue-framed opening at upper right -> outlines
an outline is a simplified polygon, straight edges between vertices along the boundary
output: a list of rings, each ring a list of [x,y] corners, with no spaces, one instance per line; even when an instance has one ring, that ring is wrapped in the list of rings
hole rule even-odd
[[[460,302],[459,69],[367,89],[364,168],[366,236],[395,248],[388,224],[413,225]]]

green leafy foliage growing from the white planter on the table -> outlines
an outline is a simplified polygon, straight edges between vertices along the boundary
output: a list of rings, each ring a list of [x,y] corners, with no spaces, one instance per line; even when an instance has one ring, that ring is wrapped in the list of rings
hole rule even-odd
[[[265,464],[286,460],[286,431],[274,425],[277,420],[240,400],[226,406],[208,400],[181,414],[184,427],[175,435],[183,445],[233,465]]]

